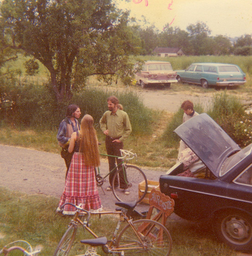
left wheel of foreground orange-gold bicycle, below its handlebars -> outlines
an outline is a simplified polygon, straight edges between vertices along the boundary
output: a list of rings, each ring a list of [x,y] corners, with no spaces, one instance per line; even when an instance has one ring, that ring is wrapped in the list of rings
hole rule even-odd
[[[70,224],[66,232],[63,234],[55,252],[54,256],[67,256],[74,241],[77,232],[77,227]]]

